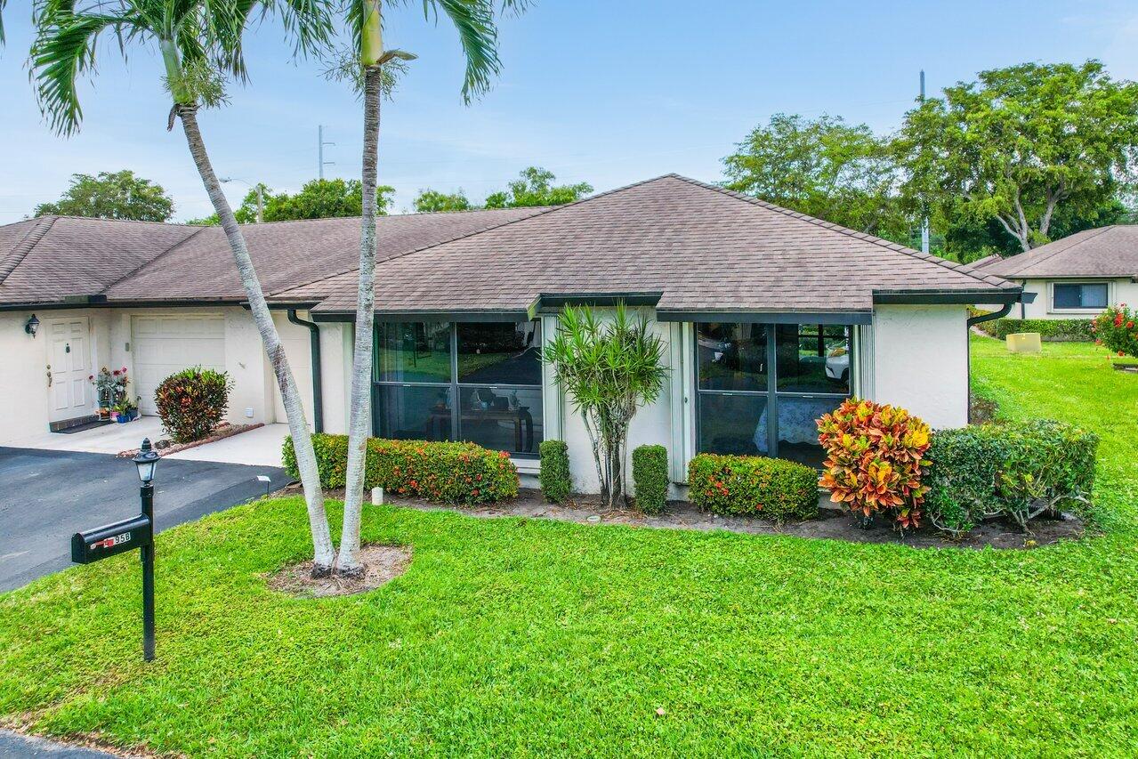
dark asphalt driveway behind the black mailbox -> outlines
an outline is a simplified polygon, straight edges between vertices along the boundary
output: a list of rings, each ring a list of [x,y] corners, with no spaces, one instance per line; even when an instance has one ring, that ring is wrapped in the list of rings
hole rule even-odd
[[[275,467],[163,459],[155,476],[155,527],[245,503],[289,477]],[[73,533],[139,513],[134,464],[101,453],[0,447],[0,592],[71,566]]]

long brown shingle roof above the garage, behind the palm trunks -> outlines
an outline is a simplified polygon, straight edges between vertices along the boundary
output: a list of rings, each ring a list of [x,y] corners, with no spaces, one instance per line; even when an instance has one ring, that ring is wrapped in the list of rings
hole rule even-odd
[[[543,211],[381,216],[380,258]],[[247,224],[242,232],[269,296],[358,266],[358,217]],[[10,274],[0,279],[0,303],[91,295],[112,302],[245,299],[217,226],[47,216],[0,226],[0,274],[9,264]]]

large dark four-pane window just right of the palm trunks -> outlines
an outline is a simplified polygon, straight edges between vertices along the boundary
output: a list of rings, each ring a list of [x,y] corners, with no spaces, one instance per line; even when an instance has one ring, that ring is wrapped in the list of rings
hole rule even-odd
[[[541,322],[385,322],[374,340],[374,435],[536,455]]]

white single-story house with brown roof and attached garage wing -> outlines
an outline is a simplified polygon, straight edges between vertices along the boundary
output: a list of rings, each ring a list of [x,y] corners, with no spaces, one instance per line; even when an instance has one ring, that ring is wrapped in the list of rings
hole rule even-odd
[[[553,208],[387,216],[379,233],[373,432],[473,440],[523,473],[542,439],[562,438],[584,489],[596,487],[586,434],[539,357],[567,304],[624,302],[655,320],[671,373],[630,444],[667,446],[683,482],[700,451],[819,463],[814,419],[851,394],[965,424],[966,306],[1021,297],[987,272],[677,175]],[[245,234],[302,391],[343,431],[358,220]],[[162,376],[200,363],[233,376],[231,420],[282,421],[229,255],[214,229],[0,228],[0,444],[90,414],[84,382],[101,364],[138,378],[143,413]]]

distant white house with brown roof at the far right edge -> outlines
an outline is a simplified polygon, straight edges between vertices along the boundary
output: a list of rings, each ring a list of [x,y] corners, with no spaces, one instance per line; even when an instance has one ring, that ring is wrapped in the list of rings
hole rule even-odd
[[[1012,319],[1094,319],[1112,304],[1138,304],[1138,225],[1085,230],[1008,258],[989,256],[972,267],[1034,294],[1033,303],[1012,308]]]

